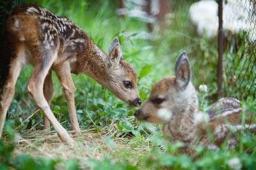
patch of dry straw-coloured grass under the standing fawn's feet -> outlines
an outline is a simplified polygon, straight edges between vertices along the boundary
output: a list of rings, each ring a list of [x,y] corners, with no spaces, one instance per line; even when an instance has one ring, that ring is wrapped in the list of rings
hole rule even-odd
[[[111,130],[110,130],[111,129]],[[117,130],[116,125],[108,126],[96,133],[95,129],[83,130],[80,135],[69,134],[75,139],[75,145],[69,147],[58,138],[57,133],[49,130],[28,130],[27,132],[19,132],[16,135],[16,148],[13,156],[19,154],[28,154],[31,157],[48,157],[49,159],[63,160],[79,160],[80,168],[89,168],[87,160],[102,159],[104,156],[118,155],[119,151],[125,150],[136,157],[128,160],[133,164],[136,159],[147,150],[145,147],[135,146],[130,138],[113,138],[113,131]],[[105,142],[105,137],[111,138],[115,147],[111,148]],[[118,158],[117,158],[118,159]],[[58,168],[59,169],[59,168]],[[60,168],[61,169],[61,168]]]

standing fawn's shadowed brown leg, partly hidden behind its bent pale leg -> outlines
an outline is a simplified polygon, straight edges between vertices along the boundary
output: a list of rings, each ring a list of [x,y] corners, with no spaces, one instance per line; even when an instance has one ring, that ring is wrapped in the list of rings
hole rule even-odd
[[[50,70],[45,77],[45,82],[43,83],[43,95],[51,108],[52,95],[54,94],[54,84],[52,83],[52,71]],[[50,122],[45,115],[43,115],[43,129],[50,129]]]

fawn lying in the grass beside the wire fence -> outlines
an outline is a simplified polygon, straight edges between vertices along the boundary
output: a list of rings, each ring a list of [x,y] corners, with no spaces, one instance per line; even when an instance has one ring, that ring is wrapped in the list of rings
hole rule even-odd
[[[185,145],[201,144],[218,148],[225,137],[233,130],[242,129],[239,100],[223,98],[207,112],[198,109],[198,96],[190,80],[190,67],[186,53],[181,53],[176,61],[175,76],[165,77],[153,87],[149,99],[135,112],[138,120],[149,123],[163,123],[164,135],[173,141]],[[255,129],[256,124],[245,124],[248,129]],[[207,135],[207,128],[213,132],[214,144]],[[228,147],[236,145],[236,139],[229,138]],[[189,147],[181,149],[192,153]]]

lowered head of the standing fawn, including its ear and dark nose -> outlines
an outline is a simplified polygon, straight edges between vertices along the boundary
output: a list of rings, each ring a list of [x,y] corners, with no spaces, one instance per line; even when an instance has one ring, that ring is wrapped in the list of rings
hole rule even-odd
[[[122,50],[117,38],[114,38],[105,61],[108,89],[123,102],[130,106],[140,106],[142,103],[137,90],[137,74],[131,65],[122,59]]]

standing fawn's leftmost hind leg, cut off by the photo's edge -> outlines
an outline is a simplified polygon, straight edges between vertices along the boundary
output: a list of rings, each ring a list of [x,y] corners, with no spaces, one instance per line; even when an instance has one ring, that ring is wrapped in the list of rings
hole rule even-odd
[[[10,63],[9,75],[5,81],[0,97],[0,138],[2,136],[2,129],[4,129],[4,121],[8,108],[11,104],[11,100],[13,100],[15,84],[23,65],[24,63],[22,63],[22,59],[20,59],[19,56],[14,58]]]

